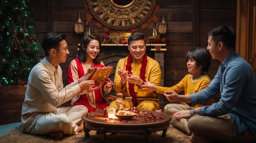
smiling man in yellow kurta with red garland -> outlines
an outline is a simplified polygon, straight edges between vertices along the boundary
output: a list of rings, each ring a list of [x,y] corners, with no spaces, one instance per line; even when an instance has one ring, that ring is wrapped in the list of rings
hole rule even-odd
[[[131,108],[135,106],[138,110],[155,111],[158,109],[158,96],[151,89],[141,89],[141,85],[146,80],[156,86],[160,84],[159,63],[146,55],[146,38],[142,33],[132,33],[128,38],[128,50],[130,54],[117,63],[114,89],[123,93],[124,97],[132,97]],[[118,108],[115,101],[110,106]]]

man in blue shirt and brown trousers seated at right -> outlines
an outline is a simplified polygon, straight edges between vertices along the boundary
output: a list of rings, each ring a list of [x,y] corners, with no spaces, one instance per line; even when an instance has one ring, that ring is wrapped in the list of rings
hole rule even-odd
[[[208,32],[207,50],[220,65],[216,76],[201,92],[189,96],[166,91],[172,101],[191,103],[191,106],[206,102],[217,93],[220,101],[211,106],[174,113],[178,121],[189,119],[188,126],[192,143],[256,142],[256,76],[252,67],[236,52],[236,34],[231,27],[219,26]]]

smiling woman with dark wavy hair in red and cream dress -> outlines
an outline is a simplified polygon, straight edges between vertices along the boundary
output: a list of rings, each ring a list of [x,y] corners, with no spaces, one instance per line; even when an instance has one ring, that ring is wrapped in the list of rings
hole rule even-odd
[[[85,35],[80,43],[77,57],[71,61],[68,68],[68,83],[74,82],[82,77],[88,69],[94,67],[105,67],[99,56],[100,40],[94,35]],[[109,101],[104,95],[112,89],[112,81],[108,78],[98,90],[72,98],[71,104],[84,105],[89,112],[100,111],[109,106]],[[94,85],[96,87],[96,85]]]

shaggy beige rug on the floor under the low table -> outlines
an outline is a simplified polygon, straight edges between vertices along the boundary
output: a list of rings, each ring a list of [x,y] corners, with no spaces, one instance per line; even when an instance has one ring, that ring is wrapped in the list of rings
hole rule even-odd
[[[0,137],[0,143],[100,143],[100,135],[96,131],[90,131],[90,138],[85,138],[85,133],[76,135],[63,135],[59,140],[49,136],[36,136],[22,132],[21,126],[11,130]],[[166,132],[166,137],[161,137],[162,131],[153,132],[148,142],[150,143],[190,143],[189,135],[170,126]],[[145,142],[143,134],[117,134],[107,133],[105,143],[142,143]]]

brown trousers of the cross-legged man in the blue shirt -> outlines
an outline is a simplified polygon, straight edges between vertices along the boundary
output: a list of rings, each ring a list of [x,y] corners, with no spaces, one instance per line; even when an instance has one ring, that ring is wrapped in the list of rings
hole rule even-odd
[[[249,130],[237,133],[236,121],[230,115],[209,117],[193,115],[188,122],[189,130],[197,136],[206,136],[230,143],[256,142]]]

